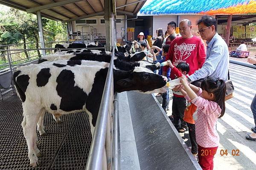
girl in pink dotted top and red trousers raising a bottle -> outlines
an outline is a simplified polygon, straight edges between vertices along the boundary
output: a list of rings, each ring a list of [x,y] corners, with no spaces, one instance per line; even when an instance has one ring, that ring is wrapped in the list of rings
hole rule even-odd
[[[216,123],[225,113],[226,84],[217,78],[205,78],[201,88],[189,84],[186,77],[180,77],[180,82],[183,85],[180,92],[198,108],[193,114],[198,163],[203,170],[213,170],[213,156],[220,140]]]

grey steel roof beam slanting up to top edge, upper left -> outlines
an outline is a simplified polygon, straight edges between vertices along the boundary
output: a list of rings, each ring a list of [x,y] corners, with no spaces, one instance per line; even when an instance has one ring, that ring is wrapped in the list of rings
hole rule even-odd
[[[35,12],[35,11],[41,11],[41,10],[44,10],[44,9],[49,9],[49,8],[53,8],[53,7],[57,7],[57,6],[63,6],[63,5],[66,5],[66,4],[69,4],[69,3],[75,3],[75,2],[79,2],[81,0],[64,0],[64,1],[61,1],[61,2],[57,2],[57,3],[50,3],[50,4],[47,4],[47,5],[43,5],[43,6],[37,6],[35,8],[29,8],[26,10],[27,13],[32,13],[32,12]]]

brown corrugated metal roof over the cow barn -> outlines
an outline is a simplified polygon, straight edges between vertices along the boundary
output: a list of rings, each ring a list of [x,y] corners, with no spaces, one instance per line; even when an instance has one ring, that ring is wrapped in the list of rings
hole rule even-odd
[[[119,14],[136,15],[146,0],[118,0]],[[0,3],[23,11],[41,9],[41,15],[52,20],[70,21],[85,17],[104,15],[104,0],[0,0]],[[61,5],[58,5],[62,3]]]

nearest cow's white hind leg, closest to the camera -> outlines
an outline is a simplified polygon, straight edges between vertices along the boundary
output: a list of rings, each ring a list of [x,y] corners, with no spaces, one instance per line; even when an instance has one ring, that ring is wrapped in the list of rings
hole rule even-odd
[[[40,117],[42,109],[30,105],[26,107],[23,105],[23,122],[21,123],[23,127],[23,134],[26,138],[26,142],[29,149],[29,160],[32,167],[38,166],[38,157],[40,156],[40,151],[37,147],[37,136],[36,136],[36,124]]]

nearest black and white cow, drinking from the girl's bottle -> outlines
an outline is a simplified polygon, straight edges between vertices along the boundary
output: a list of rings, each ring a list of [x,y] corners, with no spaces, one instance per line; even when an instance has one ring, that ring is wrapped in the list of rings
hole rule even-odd
[[[52,114],[68,114],[86,111],[93,133],[99,105],[107,77],[108,66],[60,65],[41,63],[17,68],[13,74],[15,87],[23,106],[23,134],[29,149],[32,167],[38,166],[37,122],[43,121],[45,111]],[[147,68],[135,67],[132,71],[113,69],[113,91],[140,91],[142,93],[164,93],[167,78],[154,74]],[[38,131],[44,127],[38,123]]]

